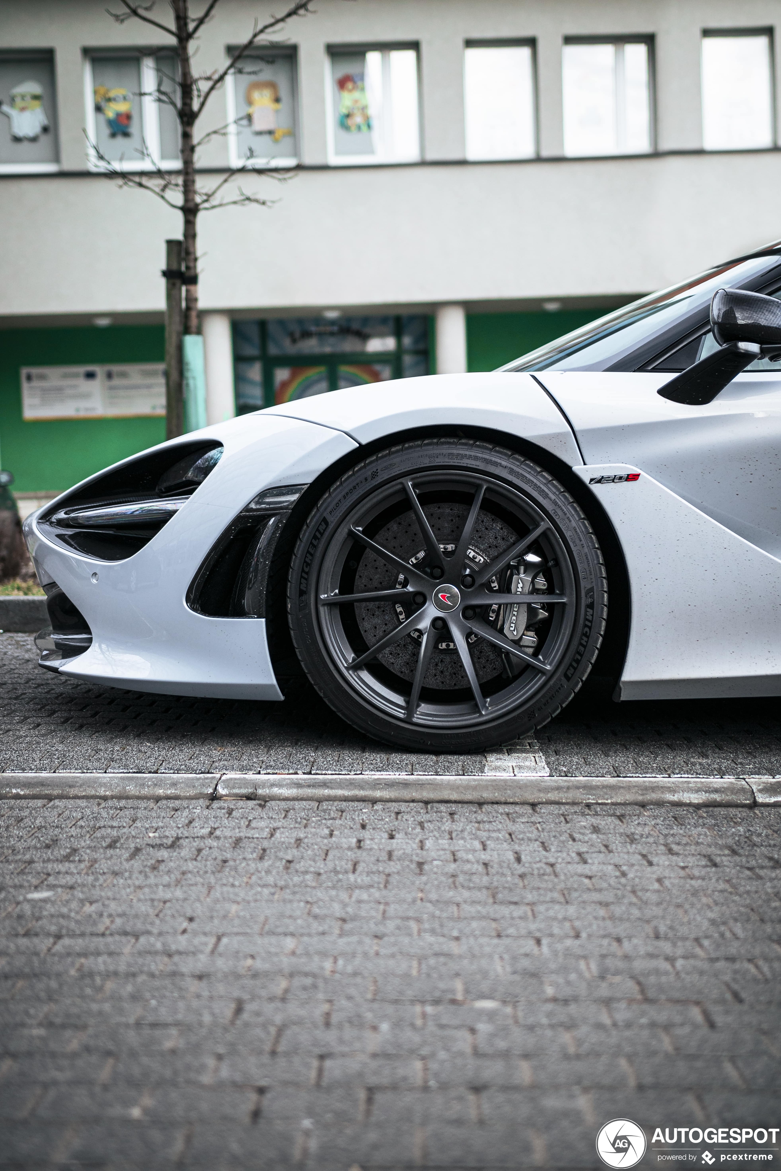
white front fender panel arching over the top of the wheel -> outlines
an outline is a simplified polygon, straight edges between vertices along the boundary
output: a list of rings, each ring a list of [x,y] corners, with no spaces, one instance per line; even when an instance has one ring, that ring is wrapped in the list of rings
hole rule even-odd
[[[419,427],[484,427],[528,439],[570,467],[583,463],[567,420],[528,374],[400,378],[300,398],[263,413],[338,427],[359,444]]]

